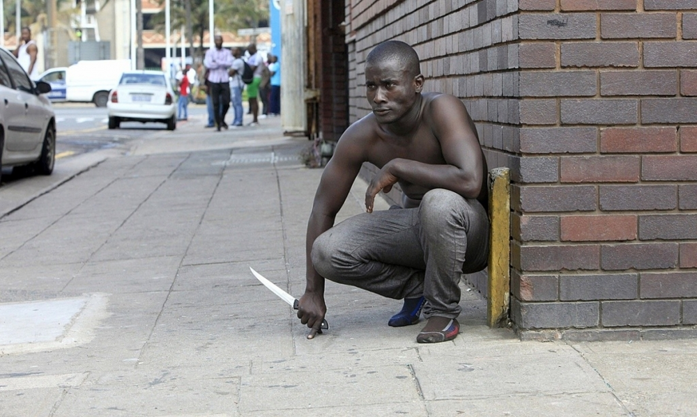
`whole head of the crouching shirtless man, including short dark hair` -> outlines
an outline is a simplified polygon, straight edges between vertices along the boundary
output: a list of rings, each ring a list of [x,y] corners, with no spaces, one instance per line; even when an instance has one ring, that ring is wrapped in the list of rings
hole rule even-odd
[[[366,96],[378,123],[394,123],[409,113],[424,86],[419,56],[404,42],[389,40],[365,59]]]

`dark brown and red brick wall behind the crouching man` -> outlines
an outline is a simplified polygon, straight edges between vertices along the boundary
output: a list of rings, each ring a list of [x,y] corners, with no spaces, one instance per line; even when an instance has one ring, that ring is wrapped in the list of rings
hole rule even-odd
[[[697,334],[697,0],[347,0],[346,15],[351,121],[369,111],[365,55],[404,40],[426,89],[466,104],[489,167],[512,168],[523,337]]]

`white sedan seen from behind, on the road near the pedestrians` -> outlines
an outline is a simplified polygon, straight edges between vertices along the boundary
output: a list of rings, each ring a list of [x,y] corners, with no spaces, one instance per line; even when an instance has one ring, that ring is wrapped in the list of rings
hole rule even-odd
[[[127,71],[109,92],[109,129],[121,122],[160,122],[176,129],[176,103],[169,78],[160,71]]]

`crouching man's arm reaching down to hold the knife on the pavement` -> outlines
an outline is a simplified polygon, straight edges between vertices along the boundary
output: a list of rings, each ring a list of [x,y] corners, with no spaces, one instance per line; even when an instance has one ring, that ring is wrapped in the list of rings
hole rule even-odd
[[[307,221],[307,236],[305,254],[307,263],[307,283],[305,294],[300,297],[298,318],[302,324],[307,324],[312,330],[308,339],[314,338],[320,329],[327,307],[324,301],[324,277],[312,265],[312,245],[315,239],[334,226],[337,212],[344,205],[348,192],[362,162],[365,160],[365,146],[356,140],[360,128],[349,127],[337,143],[334,156],[324,168],[319,182],[312,212]]]

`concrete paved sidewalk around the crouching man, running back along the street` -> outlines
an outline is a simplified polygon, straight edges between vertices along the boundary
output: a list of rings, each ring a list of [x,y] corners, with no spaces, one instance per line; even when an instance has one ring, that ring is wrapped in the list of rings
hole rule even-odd
[[[307,340],[249,267],[304,290],[308,141],[199,121],[0,217],[0,416],[694,416],[697,340],[521,342],[467,288],[461,334],[419,345],[399,301],[328,283]]]

